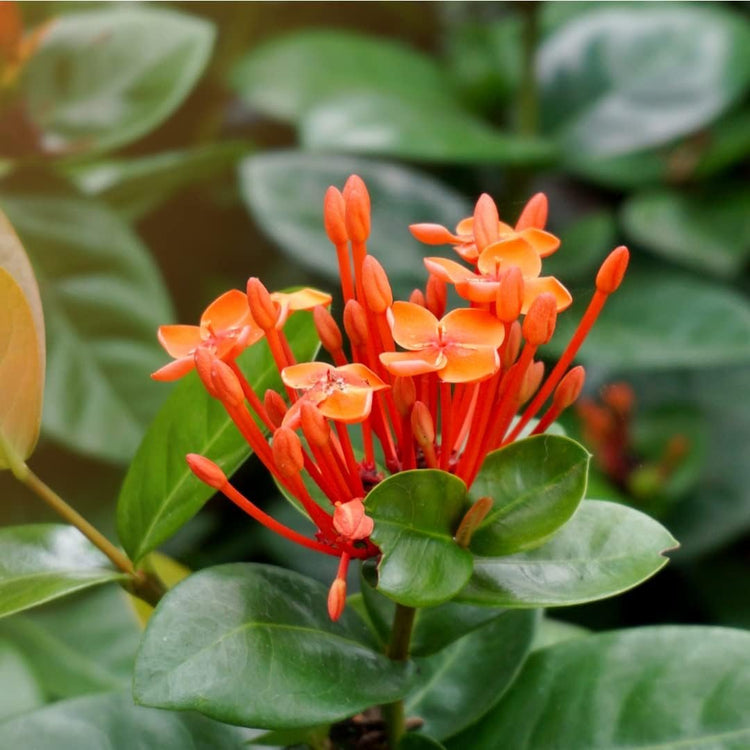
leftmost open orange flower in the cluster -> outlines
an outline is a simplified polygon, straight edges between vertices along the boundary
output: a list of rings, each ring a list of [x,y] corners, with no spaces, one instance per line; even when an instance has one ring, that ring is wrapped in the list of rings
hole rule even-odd
[[[250,315],[247,296],[231,289],[215,299],[203,312],[200,325],[159,326],[158,338],[174,362],[151,374],[154,380],[177,380],[195,366],[195,351],[206,348],[227,361],[263,338]]]

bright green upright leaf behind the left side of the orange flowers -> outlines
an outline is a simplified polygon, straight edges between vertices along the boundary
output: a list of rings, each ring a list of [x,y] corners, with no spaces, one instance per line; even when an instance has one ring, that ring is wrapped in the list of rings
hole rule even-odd
[[[285,333],[300,362],[318,347],[312,316],[293,315]],[[265,341],[237,360],[262,397],[281,388],[281,378]],[[117,531],[131,559],[140,561],[189,521],[214,494],[199,482],[185,462],[200,453],[233,474],[250,455],[250,446],[219,401],[206,393],[195,372],[179,382],[143,438],[117,502]]]

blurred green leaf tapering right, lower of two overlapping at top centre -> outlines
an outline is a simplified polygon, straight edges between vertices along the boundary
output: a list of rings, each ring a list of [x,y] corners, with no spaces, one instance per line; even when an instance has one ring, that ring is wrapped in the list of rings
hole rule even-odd
[[[372,92],[320,101],[300,140],[310,150],[451,164],[544,164],[556,155],[553,143],[503,133],[456,104]]]

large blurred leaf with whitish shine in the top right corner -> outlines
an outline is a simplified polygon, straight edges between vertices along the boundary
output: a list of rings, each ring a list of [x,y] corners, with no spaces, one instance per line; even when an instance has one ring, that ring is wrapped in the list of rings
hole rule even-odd
[[[737,101],[749,62],[750,25],[723,8],[596,9],[539,50],[545,131],[571,162],[667,143]]]

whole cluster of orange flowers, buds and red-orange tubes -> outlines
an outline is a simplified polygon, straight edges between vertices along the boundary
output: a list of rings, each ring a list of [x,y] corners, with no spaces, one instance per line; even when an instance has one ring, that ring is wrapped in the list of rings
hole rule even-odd
[[[263,513],[209,459],[191,454],[191,469],[274,531],[340,558],[328,601],[333,619],[343,611],[349,561],[379,554],[369,540],[373,523],[364,499],[385,471],[439,468],[470,486],[487,453],[515,440],[547,401],[532,433],[546,430],[578,397],[584,371],[571,362],[622,281],[628,251],[618,247],[605,260],[576,333],[545,378],[537,351],[571,302],[557,279],[540,276],[542,259],[560,244],[544,230],[546,216],[547,200],[538,194],[511,227],[483,195],[455,234],[434,224],[412,226],[423,242],[453,245],[472,267],[426,258],[425,290],[394,302],[385,271],[367,254],[370,198],[362,180],[352,176],[343,192],[329,188],[324,201],[348,346],[328,310],[329,295],[312,289],[269,293],[256,278],[248,281],[246,294],[233,290],[219,297],[199,326],[160,329],[159,339],[175,361],[154,377],[171,380],[195,367],[277,482],[303,505],[318,528],[316,538]],[[470,307],[446,312],[448,284]],[[332,364],[295,361],[283,329],[296,310],[312,310]],[[261,338],[285,395],[267,391],[261,398],[236,364],[238,354]],[[352,446],[351,425],[361,430],[362,455]],[[263,427],[272,434],[270,442]],[[303,471],[330,507],[312,498]]]

